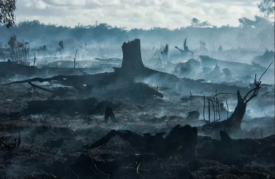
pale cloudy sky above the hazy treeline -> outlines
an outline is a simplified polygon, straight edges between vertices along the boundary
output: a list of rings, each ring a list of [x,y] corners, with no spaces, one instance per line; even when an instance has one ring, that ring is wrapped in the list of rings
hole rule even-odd
[[[238,18],[259,14],[260,0],[18,0],[16,22],[76,26],[107,23],[150,29],[188,26],[193,17],[212,25],[238,26]]]

